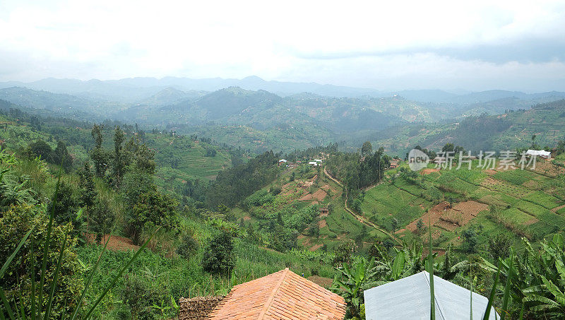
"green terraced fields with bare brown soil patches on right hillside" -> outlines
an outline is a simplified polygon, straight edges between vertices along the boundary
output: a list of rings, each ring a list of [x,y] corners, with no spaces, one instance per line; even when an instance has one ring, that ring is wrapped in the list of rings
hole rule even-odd
[[[367,191],[360,207],[365,217],[382,227],[390,227],[394,218],[405,228],[400,230],[405,237],[419,237],[418,220],[427,225],[429,219],[439,246],[460,242],[460,232],[468,228],[540,239],[565,230],[565,201],[552,176],[561,169],[548,163],[536,170],[428,169],[417,179],[401,174],[394,184]],[[432,201],[429,195],[434,189],[440,196]],[[440,203],[448,199],[453,199],[453,209]],[[477,210],[458,210],[464,203],[477,203]]]

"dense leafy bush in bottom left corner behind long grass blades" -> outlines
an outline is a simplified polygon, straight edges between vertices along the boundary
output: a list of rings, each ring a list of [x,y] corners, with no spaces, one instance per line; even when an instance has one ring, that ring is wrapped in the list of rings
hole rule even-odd
[[[28,204],[12,206],[0,216],[0,261],[6,261],[25,233],[35,226],[35,230],[18,252],[16,259],[8,266],[1,281],[1,286],[4,292],[6,292],[6,297],[11,302],[11,305],[14,305],[15,301],[19,301],[20,292],[23,295],[24,302],[31,300],[30,274],[33,270],[35,272],[35,279],[39,281],[41,269],[38,261],[42,261],[48,223],[49,218],[47,218],[47,215],[38,212],[36,207]],[[52,240],[49,244],[49,255],[47,256],[47,278],[43,288],[44,297],[49,295],[49,287],[52,284],[52,276],[57,266],[59,250],[61,249],[65,233],[71,233],[71,230],[71,223],[53,226]],[[74,250],[76,244],[77,239],[67,235],[63,262],[59,271],[59,281],[55,290],[55,299],[53,300],[52,319],[61,319],[62,315],[69,314],[76,307],[78,297],[80,297],[84,288],[83,269],[78,262]],[[31,254],[32,246],[34,254]],[[43,300],[43,303],[46,306],[47,299]],[[27,314],[30,313],[30,307],[30,304],[24,304]]]

